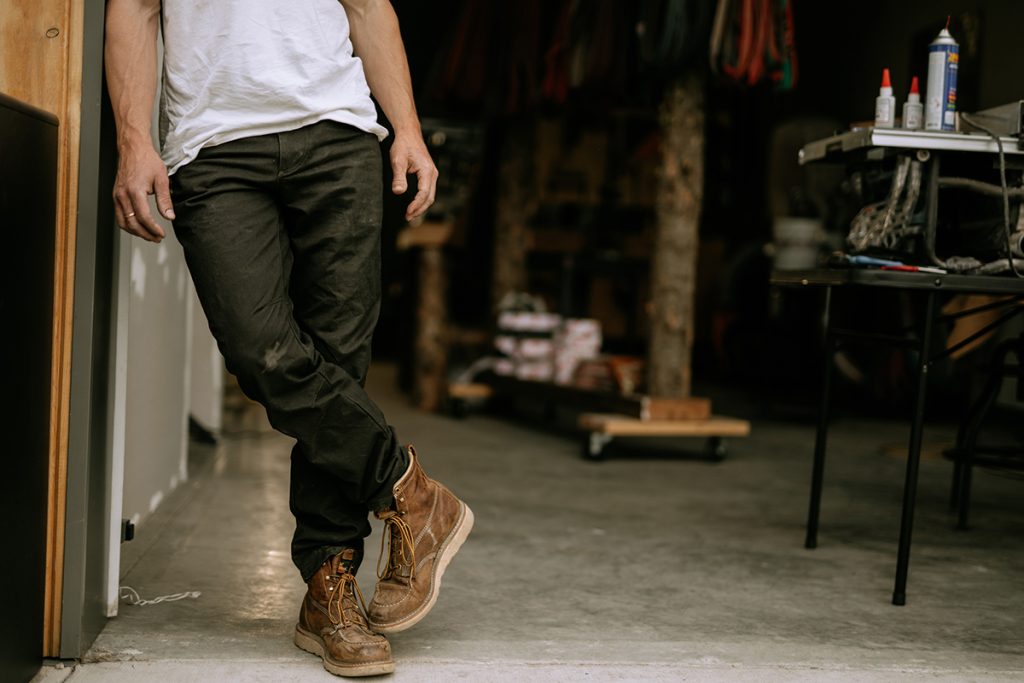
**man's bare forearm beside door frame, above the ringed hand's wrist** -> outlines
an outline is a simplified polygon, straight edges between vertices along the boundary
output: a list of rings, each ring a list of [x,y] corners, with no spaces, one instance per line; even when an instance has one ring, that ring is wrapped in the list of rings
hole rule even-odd
[[[118,128],[118,147],[153,145],[150,132],[157,93],[160,0],[110,0],[106,4],[106,85]]]

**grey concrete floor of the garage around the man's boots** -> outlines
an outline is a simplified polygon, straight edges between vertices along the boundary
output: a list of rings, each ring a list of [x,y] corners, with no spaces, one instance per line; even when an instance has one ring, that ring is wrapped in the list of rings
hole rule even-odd
[[[974,529],[922,463],[908,604],[890,604],[906,427],[834,427],[820,547],[804,550],[813,427],[755,421],[712,464],[676,450],[585,462],[569,436],[421,415],[375,369],[372,393],[476,527],[431,615],[391,638],[394,681],[1021,681],[1024,481],[976,476]],[[329,681],[291,642],[289,439],[255,412],[125,546],[123,604],[83,663],[46,683]],[[951,427],[926,431],[936,453]],[[379,528],[360,571],[373,592]]]

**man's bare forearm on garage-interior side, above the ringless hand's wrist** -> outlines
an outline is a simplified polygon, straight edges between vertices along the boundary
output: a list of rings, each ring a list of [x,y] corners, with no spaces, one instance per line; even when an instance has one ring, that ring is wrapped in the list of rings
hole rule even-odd
[[[362,60],[370,91],[395,133],[420,135],[409,61],[398,18],[388,0],[344,0],[352,47]]]

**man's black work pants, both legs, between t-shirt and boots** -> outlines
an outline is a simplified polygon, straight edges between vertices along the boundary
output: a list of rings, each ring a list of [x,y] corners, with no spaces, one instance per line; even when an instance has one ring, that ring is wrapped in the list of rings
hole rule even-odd
[[[364,390],[380,310],[381,153],[340,123],[204,148],[174,230],[227,369],[296,439],[292,558],[308,580],[370,533],[408,467]]]

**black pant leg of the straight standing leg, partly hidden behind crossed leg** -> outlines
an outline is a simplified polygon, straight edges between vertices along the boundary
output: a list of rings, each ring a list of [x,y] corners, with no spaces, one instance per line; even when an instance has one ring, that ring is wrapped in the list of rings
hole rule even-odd
[[[281,139],[286,165],[281,202],[295,259],[290,282],[295,318],[316,349],[361,387],[380,312],[380,143],[374,135],[332,121]],[[397,439],[393,447],[394,458],[379,463],[389,469],[368,476],[393,484],[404,473],[408,456]],[[350,504],[339,500],[334,488],[332,477],[296,443],[291,496],[295,556],[321,557],[322,549],[333,550],[330,540],[338,520],[352,516]],[[368,533],[369,524],[362,536]]]

